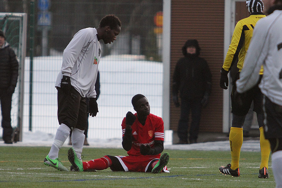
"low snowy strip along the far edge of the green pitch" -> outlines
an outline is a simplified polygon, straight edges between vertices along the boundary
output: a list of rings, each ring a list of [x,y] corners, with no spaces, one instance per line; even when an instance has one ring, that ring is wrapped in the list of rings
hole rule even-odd
[[[44,133],[40,131],[36,132],[24,132],[23,141],[14,144],[4,144],[0,141],[0,146],[47,146],[51,147],[54,141],[55,135],[50,133]],[[122,148],[122,138],[110,138],[110,139],[87,139],[89,146],[85,148]],[[67,145],[66,140],[63,147],[70,147]],[[165,142],[165,149],[180,149],[180,150],[219,150],[230,151],[229,141],[217,141],[217,142],[205,142],[196,144],[184,144],[184,145],[172,145],[171,142]],[[244,141],[241,151],[260,151],[259,140]]]

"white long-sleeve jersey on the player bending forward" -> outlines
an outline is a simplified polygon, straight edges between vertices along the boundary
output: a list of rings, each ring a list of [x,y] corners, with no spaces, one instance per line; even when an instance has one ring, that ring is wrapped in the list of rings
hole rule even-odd
[[[71,85],[82,97],[95,98],[100,57],[101,45],[97,39],[97,30],[85,28],[78,31],[64,50],[56,87],[60,87],[63,75],[70,76]]]

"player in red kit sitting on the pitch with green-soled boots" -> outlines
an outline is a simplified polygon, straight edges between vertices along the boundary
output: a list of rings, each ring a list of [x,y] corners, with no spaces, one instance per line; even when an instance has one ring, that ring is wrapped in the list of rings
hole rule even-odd
[[[100,159],[82,162],[73,148],[68,150],[71,171],[104,170],[131,172],[169,172],[166,165],[169,153],[164,150],[164,122],[150,113],[150,105],[142,94],[135,95],[131,103],[137,112],[127,112],[123,118],[123,149],[128,156],[105,155]]]

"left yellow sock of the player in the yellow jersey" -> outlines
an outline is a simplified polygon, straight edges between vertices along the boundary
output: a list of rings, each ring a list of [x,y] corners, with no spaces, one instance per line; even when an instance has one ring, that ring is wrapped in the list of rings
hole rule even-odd
[[[229,133],[231,169],[239,168],[240,150],[243,144],[243,128],[231,127]]]

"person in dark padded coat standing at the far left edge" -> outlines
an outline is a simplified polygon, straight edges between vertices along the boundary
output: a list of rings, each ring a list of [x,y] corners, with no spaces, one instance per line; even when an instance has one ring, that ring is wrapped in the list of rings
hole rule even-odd
[[[2,138],[5,144],[13,144],[11,126],[12,95],[18,81],[18,60],[5,35],[0,30],[0,101],[2,112]]]

